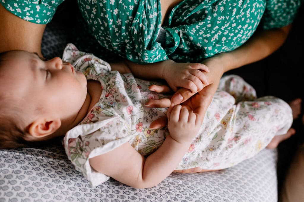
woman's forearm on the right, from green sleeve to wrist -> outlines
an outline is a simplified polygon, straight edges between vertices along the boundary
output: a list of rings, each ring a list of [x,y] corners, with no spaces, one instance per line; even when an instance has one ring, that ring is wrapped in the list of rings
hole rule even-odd
[[[282,28],[255,33],[239,48],[220,53],[216,57],[224,64],[224,72],[259,61],[282,46],[290,31],[291,24]]]

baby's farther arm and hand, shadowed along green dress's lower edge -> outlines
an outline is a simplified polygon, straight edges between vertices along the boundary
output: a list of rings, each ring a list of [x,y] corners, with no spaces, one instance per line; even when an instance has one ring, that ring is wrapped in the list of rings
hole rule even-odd
[[[117,70],[121,74],[132,73],[136,78],[165,79],[173,91],[177,91],[180,87],[196,93],[208,85],[206,75],[202,71],[209,72],[209,69],[201,63],[177,63],[173,60],[165,60],[140,65],[126,60],[110,65],[112,70]]]

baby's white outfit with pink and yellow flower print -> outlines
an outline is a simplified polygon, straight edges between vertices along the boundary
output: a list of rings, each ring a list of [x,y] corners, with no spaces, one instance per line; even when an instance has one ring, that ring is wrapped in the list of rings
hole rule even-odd
[[[107,62],[78,51],[72,44],[65,48],[63,60],[102,85],[98,103],[64,137],[68,158],[93,185],[109,177],[92,169],[89,158],[126,142],[143,156],[161,146],[168,127],[152,130],[149,125],[167,109],[144,106],[148,99],[168,96],[149,91],[148,87],[157,83],[111,71]],[[287,103],[274,97],[256,99],[254,89],[242,78],[223,77],[199,133],[177,169],[231,167],[256,155],[275,135],[285,134],[291,124],[292,111]]]

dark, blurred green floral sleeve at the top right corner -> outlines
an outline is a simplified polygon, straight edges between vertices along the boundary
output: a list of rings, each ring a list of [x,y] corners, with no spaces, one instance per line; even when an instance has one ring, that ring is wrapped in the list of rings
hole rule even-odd
[[[264,29],[280,28],[293,22],[302,0],[266,0],[262,17]]]

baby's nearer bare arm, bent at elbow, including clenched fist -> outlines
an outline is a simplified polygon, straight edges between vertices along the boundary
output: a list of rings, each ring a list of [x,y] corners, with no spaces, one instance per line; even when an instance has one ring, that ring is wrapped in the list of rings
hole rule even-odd
[[[181,161],[199,131],[201,119],[177,105],[168,110],[168,135],[164,143],[147,158],[128,142],[116,149],[89,159],[98,172],[136,188],[153,187],[167,177]]]

